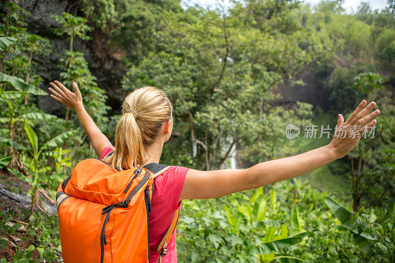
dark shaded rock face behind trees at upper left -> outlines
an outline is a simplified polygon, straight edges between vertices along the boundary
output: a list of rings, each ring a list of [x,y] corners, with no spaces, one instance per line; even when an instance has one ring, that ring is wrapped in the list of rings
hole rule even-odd
[[[69,48],[67,37],[60,37],[52,32],[52,29],[56,27],[56,22],[52,15],[71,12],[77,6],[68,1],[57,0],[18,0],[16,3],[31,13],[31,15],[25,16],[28,32],[43,36],[51,41],[52,52],[49,56],[33,57],[33,60],[37,62],[35,73],[42,76],[40,88],[47,90],[49,82],[59,78],[60,54],[63,53],[64,49]],[[84,54],[85,59],[89,63],[89,70],[97,77],[96,82],[98,86],[106,90],[106,95],[109,97],[107,100],[108,105],[112,109],[119,109],[119,105],[127,95],[120,88],[122,77],[126,74],[126,68],[118,60],[117,54],[114,53],[115,51],[111,50],[107,44],[103,44],[107,38],[100,30],[95,30],[88,41],[75,38],[74,49]],[[55,115],[64,113],[64,107],[60,103],[54,103],[49,96],[39,96],[37,104],[46,113]],[[110,112],[110,114],[113,113]]]

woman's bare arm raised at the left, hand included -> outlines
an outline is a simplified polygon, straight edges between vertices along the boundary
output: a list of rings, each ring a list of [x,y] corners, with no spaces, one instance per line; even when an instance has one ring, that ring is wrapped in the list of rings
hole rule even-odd
[[[54,83],[51,82],[50,85],[52,86],[52,88],[48,88],[48,90],[52,92],[50,96],[76,111],[79,123],[81,123],[83,130],[92,142],[93,149],[95,149],[97,157],[100,158],[102,150],[107,146],[111,146],[111,143],[85,111],[82,104],[81,92],[79,92],[77,83],[73,82],[75,92],[71,92],[57,80],[55,80]]]

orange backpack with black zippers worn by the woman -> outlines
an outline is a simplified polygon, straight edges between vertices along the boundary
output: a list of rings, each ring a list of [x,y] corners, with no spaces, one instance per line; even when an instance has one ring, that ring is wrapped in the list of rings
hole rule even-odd
[[[150,263],[149,217],[154,178],[168,166],[149,163],[118,172],[85,159],[56,194],[65,263]],[[177,225],[179,210],[158,246],[158,262]]]

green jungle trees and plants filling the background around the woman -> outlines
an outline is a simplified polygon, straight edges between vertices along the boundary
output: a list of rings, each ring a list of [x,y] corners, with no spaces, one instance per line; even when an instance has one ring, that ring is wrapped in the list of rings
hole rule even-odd
[[[285,125],[311,124],[316,109],[280,103],[275,88],[284,80],[301,84],[297,75],[305,70],[316,71],[330,110],[349,113],[367,95],[380,105],[379,136],[362,140],[348,156],[363,164],[353,170],[360,175],[359,213],[297,179],[216,200],[184,201],[180,262],[393,261],[395,108],[391,89],[382,89],[393,82],[376,73],[393,69],[391,3],[381,11],[362,3],[355,15],[345,14],[342,1],[330,0],[315,7],[293,0],[235,1],[228,10],[183,9],[178,0],[82,0],[75,7],[87,19],[54,16],[54,32],[70,40],[59,61],[61,80],[67,87],[78,83],[88,113],[114,139],[118,116],[109,123],[108,97],[82,53],[73,51],[74,37],[89,40],[92,30],[92,46],[99,38],[111,43],[109,52],[129,68],[125,91],[154,85],[174,103],[176,137],[164,146],[164,163],[209,170],[230,167],[235,149],[239,160],[250,163],[293,153]],[[74,164],[92,152],[76,116],[68,121],[68,110],[64,120],[38,111],[33,96],[33,104],[22,104],[28,93],[46,94],[37,88],[35,56],[49,55],[49,40],[27,32],[29,14],[15,3],[1,2],[0,8],[0,168],[19,154],[7,149],[19,150],[30,176],[8,170],[32,186],[32,196],[38,188],[54,196]],[[351,168],[334,167],[338,163],[328,169],[348,185]],[[326,174],[319,176],[327,183]],[[22,214],[17,220],[29,222],[25,234],[36,243],[18,247],[12,261],[55,262],[61,251],[56,217]],[[0,234],[20,230],[11,222],[15,215],[0,217]],[[0,248],[6,245],[1,239]]]

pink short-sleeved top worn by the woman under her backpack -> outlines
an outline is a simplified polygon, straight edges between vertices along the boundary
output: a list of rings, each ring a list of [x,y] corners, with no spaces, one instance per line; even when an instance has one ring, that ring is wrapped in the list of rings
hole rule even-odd
[[[104,148],[100,154],[100,159],[103,159],[112,151],[113,149],[110,146]],[[159,242],[166,233],[175,210],[181,206],[181,202],[178,202],[178,200],[188,170],[189,168],[181,166],[170,166],[166,172],[154,180],[155,188],[152,194],[152,213],[149,222],[151,263],[158,262],[159,253],[157,249]],[[177,263],[176,232],[177,229],[174,230],[167,245],[167,254],[162,258],[162,263]]]

